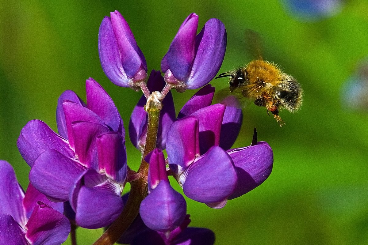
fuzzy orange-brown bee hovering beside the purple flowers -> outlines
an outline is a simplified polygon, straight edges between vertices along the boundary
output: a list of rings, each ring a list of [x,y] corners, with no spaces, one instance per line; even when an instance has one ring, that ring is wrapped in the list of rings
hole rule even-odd
[[[237,98],[249,98],[255,105],[266,107],[267,114],[271,112],[282,127],[285,123],[279,111],[284,108],[293,113],[300,109],[303,90],[300,83],[278,65],[263,60],[257,33],[246,30],[245,35],[250,38],[250,46],[255,46],[253,50],[257,58],[246,66],[221,73],[216,79],[229,77],[230,94],[235,94]]]

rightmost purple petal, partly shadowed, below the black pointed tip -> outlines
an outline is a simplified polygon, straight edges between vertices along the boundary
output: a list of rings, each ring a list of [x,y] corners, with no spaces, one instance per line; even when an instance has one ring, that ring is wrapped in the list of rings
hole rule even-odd
[[[267,143],[227,151],[233,159],[238,184],[229,199],[234,199],[262,184],[272,171],[273,153]]]

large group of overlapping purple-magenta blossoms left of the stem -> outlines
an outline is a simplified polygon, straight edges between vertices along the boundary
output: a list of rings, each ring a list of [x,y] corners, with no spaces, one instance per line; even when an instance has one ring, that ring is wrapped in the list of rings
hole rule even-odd
[[[79,226],[100,228],[123,209],[125,132],[110,96],[92,78],[86,80],[86,97],[87,104],[65,91],[57,106],[60,135],[32,120],[17,144],[31,166],[32,185],[55,202],[70,202]]]

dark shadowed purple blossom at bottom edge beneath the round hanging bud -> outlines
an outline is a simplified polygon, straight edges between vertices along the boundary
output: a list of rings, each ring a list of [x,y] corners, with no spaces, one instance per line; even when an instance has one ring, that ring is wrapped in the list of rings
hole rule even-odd
[[[205,228],[187,227],[189,215],[169,235],[160,231],[145,230],[139,233],[131,245],[213,245],[215,234]]]

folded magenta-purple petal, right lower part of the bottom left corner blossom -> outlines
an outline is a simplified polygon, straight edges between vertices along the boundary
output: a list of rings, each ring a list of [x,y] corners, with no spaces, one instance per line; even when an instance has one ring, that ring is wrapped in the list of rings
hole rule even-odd
[[[38,201],[26,225],[26,238],[32,245],[60,245],[70,233],[69,220],[58,211]]]

